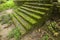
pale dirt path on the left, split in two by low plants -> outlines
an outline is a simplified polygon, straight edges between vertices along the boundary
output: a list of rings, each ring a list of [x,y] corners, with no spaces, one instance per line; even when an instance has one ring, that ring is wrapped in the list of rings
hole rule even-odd
[[[3,12],[0,13],[0,17],[1,17],[2,15],[7,15],[7,14],[10,14],[10,13],[12,13],[12,12],[13,12],[12,9],[5,10],[5,11],[3,11]],[[5,28],[5,27],[7,27],[7,26],[8,26],[8,24],[2,25],[2,24],[0,23],[0,40],[7,40],[7,35],[8,35],[8,33],[14,28],[14,25],[13,25],[13,24],[12,24],[10,27]]]

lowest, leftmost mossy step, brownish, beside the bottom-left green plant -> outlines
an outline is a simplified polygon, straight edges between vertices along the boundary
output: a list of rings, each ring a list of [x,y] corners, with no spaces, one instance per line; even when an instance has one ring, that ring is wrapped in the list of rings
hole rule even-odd
[[[12,21],[14,22],[15,27],[19,27],[19,30],[22,35],[25,34],[26,30],[24,29],[24,27],[18,22],[18,20],[12,14],[10,16],[12,17]]]

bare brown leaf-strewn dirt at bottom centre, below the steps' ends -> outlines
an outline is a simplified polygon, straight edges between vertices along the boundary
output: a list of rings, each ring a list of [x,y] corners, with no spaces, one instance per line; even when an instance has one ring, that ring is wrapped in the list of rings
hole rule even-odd
[[[34,30],[32,33],[27,34],[22,37],[21,40],[42,40],[42,37],[47,34],[44,30],[39,28],[38,30]]]

